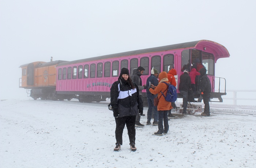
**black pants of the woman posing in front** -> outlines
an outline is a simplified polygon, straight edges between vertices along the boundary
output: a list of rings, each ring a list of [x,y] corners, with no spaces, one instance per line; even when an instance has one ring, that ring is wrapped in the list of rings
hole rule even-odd
[[[132,116],[125,116],[125,117],[115,117],[116,120],[116,144],[123,145],[123,131],[124,126],[126,124],[128,136],[131,143],[135,143],[135,121],[136,121],[136,115]]]

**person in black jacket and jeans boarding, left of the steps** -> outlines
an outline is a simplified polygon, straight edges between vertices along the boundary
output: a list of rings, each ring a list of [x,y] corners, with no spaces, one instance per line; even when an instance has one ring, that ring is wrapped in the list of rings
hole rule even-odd
[[[183,111],[182,114],[187,113],[187,106],[188,106],[188,90],[191,89],[191,79],[188,75],[188,70],[185,69],[183,74],[180,76],[180,84],[179,84],[179,91],[183,97]]]

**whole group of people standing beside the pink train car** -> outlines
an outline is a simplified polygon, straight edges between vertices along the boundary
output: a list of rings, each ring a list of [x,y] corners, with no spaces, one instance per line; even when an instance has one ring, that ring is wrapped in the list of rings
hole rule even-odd
[[[146,89],[147,93],[147,125],[151,125],[154,109],[153,125],[158,125],[158,131],[154,133],[155,135],[167,134],[169,131],[168,117],[175,117],[171,113],[173,108],[172,103],[167,102],[164,96],[162,96],[162,93],[166,95],[168,85],[165,83],[172,84],[176,87],[177,83],[174,76],[177,75],[177,71],[175,69],[170,69],[168,73],[158,73],[158,70],[153,68],[151,70],[151,75],[147,79],[146,85],[142,85],[140,76],[143,74],[144,70],[145,69],[142,66],[139,66],[137,69],[133,70],[132,75],[129,75],[129,70],[127,68],[122,68],[118,80],[115,81],[110,88],[110,104],[112,105],[113,115],[116,121],[116,147],[114,148],[114,151],[120,150],[121,145],[123,145],[122,137],[125,125],[128,130],[130,148],[132,151],[136,151],[135,126],[144,126],[140,123],[140,116],[143,115],[143,89]],[[210,80],[206,75],[206,69],[202,68],[199,72],[201,94],[205,104],[204,113],[201,115],[210,116],[209,99],[211,84],[209,88],[208,84],[210,83]],[[183,114],[187,114],[186,101],[188,100],[188,91],[189,89],[192,89],[192,85],[195,84],[195,82],[191,83],[191,79],[192,81],[195,81],[193,77],[189,76],[188,70],[184,70],[184,73],[180,76],[179,84],[179,91],[183,96]],[[157,106],[154,106],[154,99],[156,97],[158,98],[159,103]]]

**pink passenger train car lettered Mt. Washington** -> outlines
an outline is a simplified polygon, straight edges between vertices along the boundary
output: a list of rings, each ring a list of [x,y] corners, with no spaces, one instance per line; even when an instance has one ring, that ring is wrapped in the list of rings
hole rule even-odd
[[[215,64],[219,58],[229,56],[227,49],[219,43],[200,40],[62,62],[56,66],[56,94],[64,95],[62,98],[72,95],[80,102],[106,101],[122,68],[128,68],[132,73],[134,68],[143,66],[142,84],[146,84],[152,68],[159,73],[174,68],[178,86],[179,77],[185,69],[196,68],[198,71],[203,65],[212,85],[211,101],[216,98],[222,102],[221,96],[226,95],[226,80],[215,76]],[[143,94],[146,99],[145,90]],[[179,92],[178,98],[182,98]],[[195,98],[199,102],[202,100],[200,94]]]

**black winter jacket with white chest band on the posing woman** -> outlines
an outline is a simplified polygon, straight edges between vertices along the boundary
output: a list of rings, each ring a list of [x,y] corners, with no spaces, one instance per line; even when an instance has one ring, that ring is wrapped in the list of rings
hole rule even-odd
[[[118,110],[118,117],[137,115],[138,109],[140,112],[143,111],[143,104],[139,99],[138,86],[134,85],[136,88],[132,89],[126,80],[120,78],[110,88],[110,104],[113,111]]]

